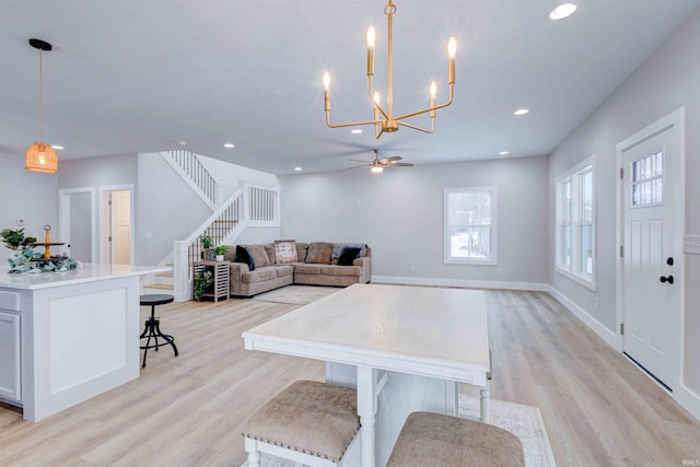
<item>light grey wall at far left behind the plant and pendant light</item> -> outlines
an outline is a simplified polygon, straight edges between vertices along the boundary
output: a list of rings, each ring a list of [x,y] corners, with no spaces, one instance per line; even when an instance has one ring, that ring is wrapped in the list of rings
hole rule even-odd
[[[25,236],[35,236],[44,242],[44,225],[50,224],[58,233],[58,175],[39,174],[24,170],[24,155],[0,152],[0,230],[24,227]],[[59,170],[62,163],[59,162]],[[24,219],[25,225],[16,220]],[[55,242],[60,238],[51,236]],[[0,244],[0,265],[13,252]]]

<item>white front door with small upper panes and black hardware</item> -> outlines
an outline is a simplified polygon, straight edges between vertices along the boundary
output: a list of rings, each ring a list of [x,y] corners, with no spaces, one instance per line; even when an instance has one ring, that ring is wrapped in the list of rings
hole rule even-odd
[[[680,357],[680,162],[676,125],[622,150],[625,352],[672,390]]]

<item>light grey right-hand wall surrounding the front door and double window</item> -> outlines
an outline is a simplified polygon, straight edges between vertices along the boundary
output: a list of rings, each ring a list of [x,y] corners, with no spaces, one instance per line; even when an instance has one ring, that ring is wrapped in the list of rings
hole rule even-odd
[[[553,270],[552,287],[610,332],[616,325],[616,153],[615,145],[678,107],[686,108],[686,234],[700,234],[700,11],[622,83],[550,156],[552,177],[592,154],[597,155],[598,290],[590,291]],[[553,232],[553,180],[550,179],[550,229]],[[551,235],[551,234],[550,234]],[[696,393],[700,413],[700,257],[685,255],[685,377]],[[596,310],[595,301],[599,306]]]

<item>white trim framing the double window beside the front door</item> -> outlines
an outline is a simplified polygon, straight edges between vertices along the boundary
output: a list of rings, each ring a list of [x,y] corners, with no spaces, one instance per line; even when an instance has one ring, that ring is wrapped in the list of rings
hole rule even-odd
[[[585,173],[592,174],[592,190],[593,197],[591,221],[584,221],[581,215],[582,211],[582,186],[580,184],[581,176]],[[596,156],[592,155],[575,166],[569,168],[555,180],[555,271],[565,278],[573,280],[591,290],[597,290],[597,265],[598,265],[598,231],[597,231],[597,196],[596,196]],[[564,226],[564,203],[563,203],[563,190],[562,183],[569,180],[570,188],[570,219],[569,219],[569,235],[570,235],[570,264],[567,265],[563,260],[563,226]],[[581,270],[581,227],[584,225],[591,225],[593,229],[593,270],[588,275]]]

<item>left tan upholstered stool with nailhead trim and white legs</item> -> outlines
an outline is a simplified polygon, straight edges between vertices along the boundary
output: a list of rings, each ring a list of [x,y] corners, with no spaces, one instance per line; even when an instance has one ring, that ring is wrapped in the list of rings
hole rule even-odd
[[[353,388],[298,381],[265,404],[243,427],[248,467],[260,452],[312,467],[341,466],[360,430]]]

